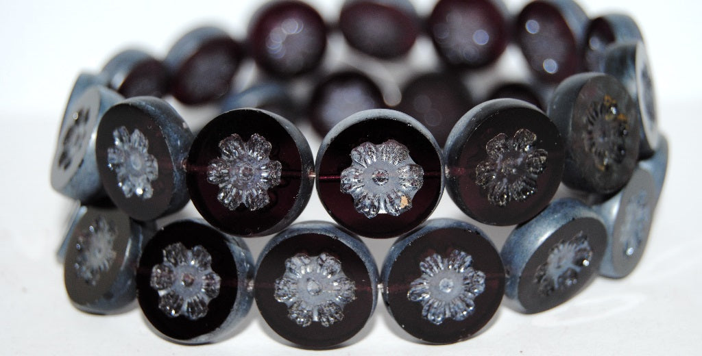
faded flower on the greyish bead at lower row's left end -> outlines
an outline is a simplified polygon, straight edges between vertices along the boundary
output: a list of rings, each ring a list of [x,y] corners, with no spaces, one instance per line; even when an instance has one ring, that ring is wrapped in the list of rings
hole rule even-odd
[[[88,226],[78,235],[76,249],[78,250],[74,268],[78,277],[88,283],[96,285],[100,274],[112,266],[117,253],[112,249],[114,239],[117,238],[117,228],[112,221],[98,216],[93,224]]]

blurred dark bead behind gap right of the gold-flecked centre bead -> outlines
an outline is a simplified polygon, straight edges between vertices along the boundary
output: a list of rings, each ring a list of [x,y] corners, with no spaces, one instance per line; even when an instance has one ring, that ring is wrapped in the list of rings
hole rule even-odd
[[[444,146],[453,125],[472,106],[468,89],[458,76],[427,73],[404,86],[397,109],[425,125],[439,146]]]

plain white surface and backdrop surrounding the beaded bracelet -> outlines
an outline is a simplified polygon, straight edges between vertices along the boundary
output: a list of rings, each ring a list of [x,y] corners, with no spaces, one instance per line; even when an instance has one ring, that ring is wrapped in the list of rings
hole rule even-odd
[[[315,4],[322,1],[314,1]],[[234,337],[186,347],[152,334],[140,310],[99,317],[74,309],[54,252],[69,202],[48,184],[58,118],[81,69],[98,71],[120,48],[137,44],[163,55],[192,25],[215,20],[239,38],[258,1],[4,1],[0,12],[0,353],[4,355],[145,354],[296,355],[272,334],[256,307]],[[523,1],[510,1],[517,11]],[[319,5],[326,18],[340,0]],[[428,11],[432,1],[417,1]],[[625,11],[647,40],[661,127],[670,140],[663,196],[640,266],[628,278],[597,278],[569,303],[538,315],[502,307],[488,328],[446,346],[416,343],[382,303],[350,345],[329,354],[691,355],[702,350],[701,201],[698,91],[699,2],[607,1],[588,13]],[[312,142],[316,149],[317,142]],[[448,196],[434,217],[461,217]],[[316,196],[300,217],[329,219]],[[491,230],[501,245],[507,230]],[[247,240],[255,256],[267,238]],[[380,261],[390,240],[366,240]]]

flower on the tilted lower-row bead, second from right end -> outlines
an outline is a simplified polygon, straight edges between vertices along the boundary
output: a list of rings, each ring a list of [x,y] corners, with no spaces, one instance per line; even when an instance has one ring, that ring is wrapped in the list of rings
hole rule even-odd
[[[578,273],[590,266],[592,248],[588,236],[579,232],[569,240],[561,240],[548,251],[548,258],[536,268],[534,283],[541,296],[562,292],[578,283]]]

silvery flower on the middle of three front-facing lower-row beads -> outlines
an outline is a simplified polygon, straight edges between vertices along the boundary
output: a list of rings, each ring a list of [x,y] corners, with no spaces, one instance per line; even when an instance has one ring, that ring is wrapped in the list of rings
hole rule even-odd
[[[356,299],[356,284],[341,270],[341,262],[323,252],[296,254],[285,261],[285,273],[275,281],[275,300],[288,306],[288,317],[300,327],[319,322],[324,327],[344,318],[346,304]]]

